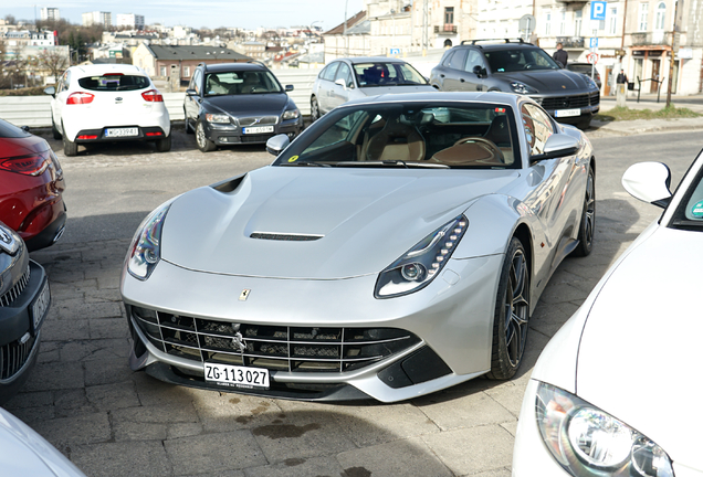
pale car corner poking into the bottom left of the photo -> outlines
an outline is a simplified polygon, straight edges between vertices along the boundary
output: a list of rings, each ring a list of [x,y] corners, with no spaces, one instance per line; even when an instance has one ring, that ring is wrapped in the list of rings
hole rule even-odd
[[[85,477],[66,457],[22,421],[0,407],[2,477]]]

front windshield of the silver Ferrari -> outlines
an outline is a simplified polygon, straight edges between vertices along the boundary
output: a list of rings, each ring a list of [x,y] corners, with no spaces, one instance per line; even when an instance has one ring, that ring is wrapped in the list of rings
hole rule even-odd
[[[520,152],[507,105],[385,103],[333,109],[273,165],[506,169]]]

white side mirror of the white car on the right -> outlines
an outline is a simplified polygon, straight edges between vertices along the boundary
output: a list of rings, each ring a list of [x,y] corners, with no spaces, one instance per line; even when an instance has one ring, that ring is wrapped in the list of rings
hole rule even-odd
[[[664,209],[671,201],[671,170],[661,162],[638,162],[622,174],[622,187],[634,199]]]

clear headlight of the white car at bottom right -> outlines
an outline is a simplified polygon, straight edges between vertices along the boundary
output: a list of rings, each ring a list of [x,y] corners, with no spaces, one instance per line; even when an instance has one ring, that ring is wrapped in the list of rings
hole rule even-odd
[[[574,394],[539,383],[535,405],[542,438],[570,475],[673,477],[660,446]]]

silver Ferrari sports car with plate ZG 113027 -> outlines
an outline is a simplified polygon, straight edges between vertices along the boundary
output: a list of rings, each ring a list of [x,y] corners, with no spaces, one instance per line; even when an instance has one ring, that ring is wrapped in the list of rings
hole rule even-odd
[[[356,99],[266,148],[271,166],[137,230],[120,283],[133,370],[384,402],[510,379],[549,276],[592,246],[591,145],[526,96]]]

